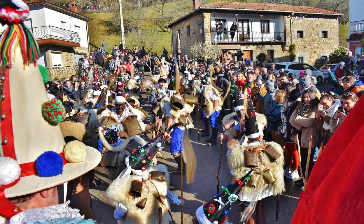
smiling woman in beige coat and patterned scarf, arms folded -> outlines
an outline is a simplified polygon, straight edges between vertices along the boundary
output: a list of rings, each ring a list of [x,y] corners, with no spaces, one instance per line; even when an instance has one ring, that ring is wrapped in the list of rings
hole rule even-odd
[[[313,154],[315,151],[316,143],[319,138],[318,128],[316,127],[315,116],[317,113],[318,98],[316,93],[312,89],[307,89],[302,93],[301,102],[297,105],[296,109],[293,111],[289,122],[298,131],[301,131],[299,135],[300,142],[296,142],[296,135],[292,135],[291,139],[297,144],[300,144],[301,148],[301,164],[302,173],[306,172],[308,145],[310,142],[310,136],[312,136],[312,147],[311,147],[311,157],[308,167],[308,175],[313,167]],[[305,179],[308,177],[305,176]],[[303,180],[297,180],[295,184],[303,187]]]

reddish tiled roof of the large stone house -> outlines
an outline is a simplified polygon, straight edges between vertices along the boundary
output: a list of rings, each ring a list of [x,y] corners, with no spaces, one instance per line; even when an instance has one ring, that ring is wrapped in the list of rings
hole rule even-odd
[[[335,14],[343,15],[339,12],[332,12],[325,9],[319,9],[310,6],[296,6],[296,5],[274,5],[274,4],[261,4],[261,3],[243,3],[243,2],[226,2],[217,1],[201,5],[201,8],[227,8],[227,9],[247,9],[257,11],[285,11],[294,13],[307,13],[307,14]]]

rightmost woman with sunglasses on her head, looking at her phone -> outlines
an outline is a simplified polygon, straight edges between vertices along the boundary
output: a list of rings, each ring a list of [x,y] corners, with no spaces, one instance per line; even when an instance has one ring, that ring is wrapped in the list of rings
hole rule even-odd
[[[334,133],[337,128],[343,123],[351,109],[358,102],[359,97],[355,93],[347,92],[341,94],[341,101],[343,106],[340,106],[330,121],[330,131]]]

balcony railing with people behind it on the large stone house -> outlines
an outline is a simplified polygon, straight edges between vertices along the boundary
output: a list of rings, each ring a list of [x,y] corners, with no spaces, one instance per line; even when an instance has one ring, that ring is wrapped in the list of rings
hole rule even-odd
[[[231,36],[233,35],[233,38]],[[213,43],[258,43],[258,42],[285,42],[285,32],[219,32],[211,31],[211,42]]]

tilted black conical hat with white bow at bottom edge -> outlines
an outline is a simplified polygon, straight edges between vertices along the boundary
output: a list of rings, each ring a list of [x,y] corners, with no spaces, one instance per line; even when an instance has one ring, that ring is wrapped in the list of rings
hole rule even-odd
[[[245,186],[245,182],[248,181],[251,173],[252,171],[242,178],[235,180],[233,184],[221,187],[223,191],[203,205],[203,212],[210,223],[217,221],[221,224],[225,221],[226,213],[231,209],[232,203],[239,201],[239,192]]]

